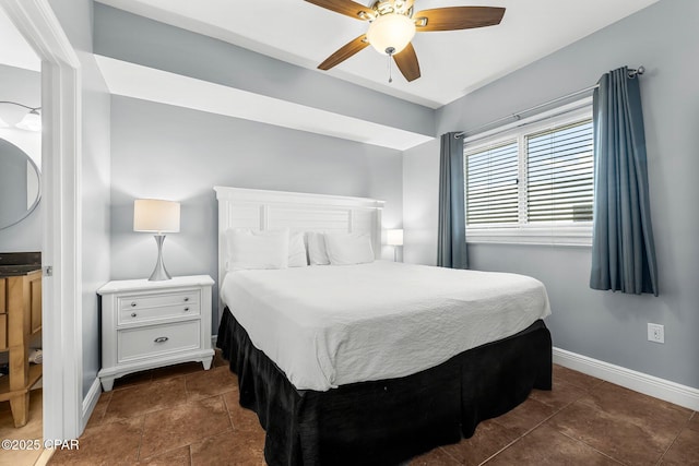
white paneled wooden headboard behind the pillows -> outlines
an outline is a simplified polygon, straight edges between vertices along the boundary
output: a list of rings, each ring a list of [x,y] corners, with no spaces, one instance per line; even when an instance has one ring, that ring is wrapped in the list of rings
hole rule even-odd
[[[380,258],[383,201],[225,187],[214,190],[218,200],[218,286],[226,274],[225,231],[229,228],[368,232]]]

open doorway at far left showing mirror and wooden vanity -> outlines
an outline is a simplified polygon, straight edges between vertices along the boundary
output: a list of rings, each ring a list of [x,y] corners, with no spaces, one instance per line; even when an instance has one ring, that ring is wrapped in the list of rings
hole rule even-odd
[[[2,10],[0,43],[0,438],[40,445],[42,61]],[[40,453],[2,455],[24,465]]]

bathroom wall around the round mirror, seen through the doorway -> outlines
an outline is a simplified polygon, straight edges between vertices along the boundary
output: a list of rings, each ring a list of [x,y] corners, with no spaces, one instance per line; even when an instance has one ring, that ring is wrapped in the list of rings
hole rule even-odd
[[[11,100],[31,107],[39,107],[42,105],[42,74],[36,71],[0,64],[0,100]],[[19,121],[26,113],[26,110],[21,107],[7,104],[0,104],[0,116],[8,119],[8,123]],[[40,133],[1,128],[0,139],[4,139],[20,147],[32,157],[38,167],[42,166]],[[40,250],[42,204],[39,203],[25,219],[9,228],[0,229],[0,252]]]

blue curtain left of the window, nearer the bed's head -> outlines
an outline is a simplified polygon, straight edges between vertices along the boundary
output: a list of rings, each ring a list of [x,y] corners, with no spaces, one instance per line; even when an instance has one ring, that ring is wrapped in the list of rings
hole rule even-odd
[[[467,268],[463,184],[463,139],[441,135],[439,158],[439,230],[437,265]]]

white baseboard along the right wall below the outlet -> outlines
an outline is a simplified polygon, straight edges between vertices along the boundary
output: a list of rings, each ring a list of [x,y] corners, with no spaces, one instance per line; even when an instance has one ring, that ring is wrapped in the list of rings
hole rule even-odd
[[[609,362],[600,361],[560,348],[554,348],[554,362],[597,379],[625,386],[665,402],[699,410],[699,390],[660,379]]]

